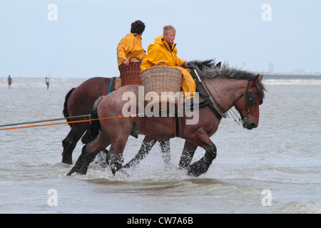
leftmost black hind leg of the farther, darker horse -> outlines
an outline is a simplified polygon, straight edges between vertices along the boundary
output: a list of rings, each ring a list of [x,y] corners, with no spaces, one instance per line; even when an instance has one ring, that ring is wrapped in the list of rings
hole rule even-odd
[[[63,152],[62,152],[62,161],[68,165],[73,163],[73,150],[75,149],[77,142],[80,140],[83,133],[85,133],[86,128],[76,128],[71,127],[70,132],[66,136],[66,138],[62,141]]]

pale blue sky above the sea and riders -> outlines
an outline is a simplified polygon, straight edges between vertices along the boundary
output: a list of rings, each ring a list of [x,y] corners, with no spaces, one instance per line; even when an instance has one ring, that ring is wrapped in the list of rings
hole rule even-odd
[[[186,61],[321,72],[319,0],[0,0],[0,77],[119,76],[116,47],[138,19],[146,51],[173,25]]]

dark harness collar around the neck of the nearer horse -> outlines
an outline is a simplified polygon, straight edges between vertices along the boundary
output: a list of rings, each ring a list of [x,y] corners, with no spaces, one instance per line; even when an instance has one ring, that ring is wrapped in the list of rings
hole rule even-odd
[[[223,113],[223,111],[220,110],[218,105],[215,103],[214,98],[212,97],[212,95],[210,95],[210,92],[205,86],[205,83],[202,81],[202,79],[205,77],[202,71],[200,71],[198,66],[196,66],[193,62],[190,63],[190,68],[190,75],[193,77],[196,83],[196,91],[198,91],[198,93],[200,93],[200,96],[205,100],[205,103],[202,103],[200,106],[208,105],[210,110],[212,110],[219,119],[226,118],[226,113]]]

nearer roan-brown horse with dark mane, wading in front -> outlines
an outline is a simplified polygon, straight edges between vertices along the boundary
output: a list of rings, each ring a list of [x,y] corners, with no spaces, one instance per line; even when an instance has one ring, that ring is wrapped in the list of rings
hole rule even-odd
[[[222,68],[203,69],[203,83],[208,88],[210,95],[215,100],[222,113],[227,112],[235,106],[240,113],[243,127],[253,129],[258,127],[260,110],[259,105],[263,103],[265,88],[261,78],[248,71],[240,71],[235,68],[223,66]],[[101,120],[96,121],[98,126],[92,126],[93,133],[98,133],[98,137],[92,142],[83,146],[81,155],[68,175],[77,172],[85,175],[88,165],[99,151],[111,145],[108,152],[108,162],[111,165],[113,174],[122,168],[123,150],[126,146],[128,136],[131,132],[147,135],[151,138],[174,138],[175,131],[178,130],[179,137],[185,139],[183,153],[180,157],[179,167],[186,168],[188,175],[199,176],[207,172],[210,164],[216,157],[215,144],[210,140],[210,136],[218,130],[221,118],[211,110],[208,105],[200,107],[199,120],[195,124],[188,125],[191,117],[183,115],[177,118],[177,128],[173,124],[175,118],[167,117],[147,117],[146,115],[132,115],[128,118],[109,118],[122,115],[122,108],[127,105],[127,100],[122,100],[123,93],[131,91],[138,97],[138,86],[124,86],[115,92],[98,98],[93,115],[96,114]],[[142,103],[134,100],[138,114]],[[196,108],[197,109],[197,108]],[[190,165],[196,148],[200,146],[205,150],[205,155],[200,160]]]

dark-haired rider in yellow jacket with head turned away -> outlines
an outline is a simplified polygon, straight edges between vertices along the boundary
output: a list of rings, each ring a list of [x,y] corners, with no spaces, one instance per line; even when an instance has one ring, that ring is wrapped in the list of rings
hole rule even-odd
[[[129,58],[136,56],[138,58],[145,58],[146,51],[142,45],[141,36],[145,31],[145,24],[138,20],[131,24],[131,33],[128,33],[121,39],[117,46],[117,62],[118,66],[124,63],[126,66],[129,65]],[[137,61],[137,59],[133,59]]]

